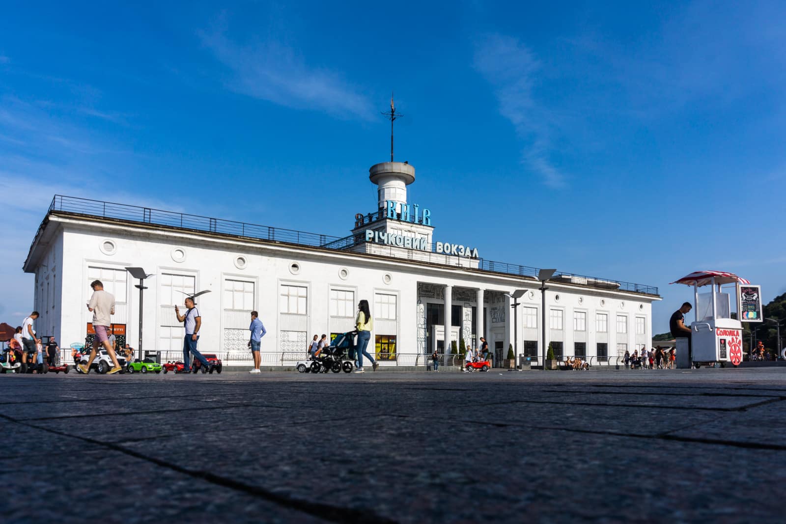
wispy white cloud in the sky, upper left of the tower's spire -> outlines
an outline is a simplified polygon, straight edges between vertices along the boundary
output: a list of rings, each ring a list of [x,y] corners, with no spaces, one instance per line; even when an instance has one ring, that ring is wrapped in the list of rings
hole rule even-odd
[[[202,43],[230,69],[226,87],[289,108],[324,111],[341,118],[371,119],[373,106],[361,90],[324,66],[311,66],[281,42],[241,44],[226,28],[199,31]]]

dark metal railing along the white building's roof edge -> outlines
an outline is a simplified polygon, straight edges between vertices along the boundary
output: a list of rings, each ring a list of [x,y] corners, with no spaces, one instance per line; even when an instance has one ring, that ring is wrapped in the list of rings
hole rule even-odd
[[[228,235],[244,236],[258,240],[275,240],[288,244],[299,244],[303,246],[325,247],[338,251],[347,250],[355,245],[365,242],[363,235],[331,236],[318,233],[307,233],[296,231],[295,229],[275,228],[268,225],[248,224],[246,222],[236,222],[223,220],[221,218],[203,217],[196,214],[177,213],[174,211],[162,211],[151,207],[130,206],[123,203],[103,202],[101,200],[90,200],[75,196],[55,195],[50,204],[49,211],[64,211],[75,214],[85,214],[103,218],[116,218],[131,222],[142,222],[145,224],[168,225],[193,231],[204,231],[211,233],[224,233]],[[375,217],[379,219],[379,217]],[[423,254],[435,255],[434,263],[453,264],[454,266],[466,266],[461,263],[461,257],[451,257],[437,255],[434,252],[421,251]],[[428,262],[428,260],[426,261]],[[505,275],[516,275],[518,277],[531,277],[537,279],[538,268],[530,266],[520,266],[507,262],[496,262],[493,260],[479,259],[478,269],[490,273],[501,273]],[[598,277],[587,277],[574,273],[556,273],[552,277],[553,281],[568,284],[586,285],[590,288],[613,289],[620,291],[633,291],[634,293],[644,293],[646,295],[658,295],[658,288],[645,284],[634,284],[621,280],[610,280]]]

